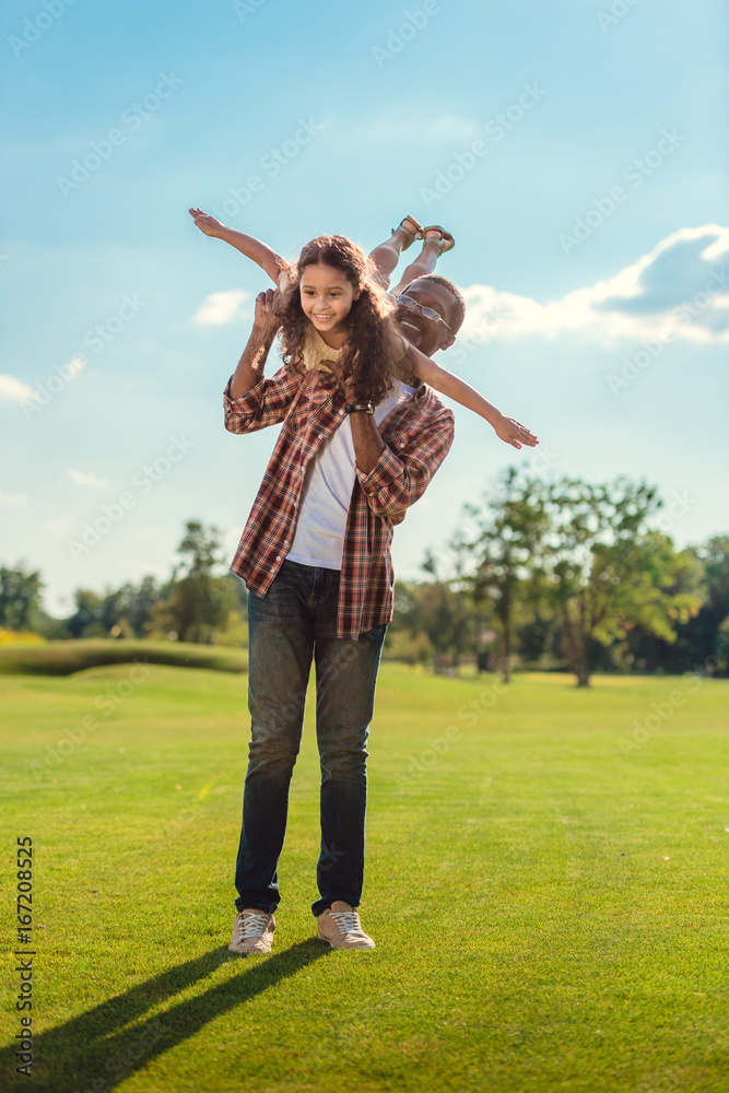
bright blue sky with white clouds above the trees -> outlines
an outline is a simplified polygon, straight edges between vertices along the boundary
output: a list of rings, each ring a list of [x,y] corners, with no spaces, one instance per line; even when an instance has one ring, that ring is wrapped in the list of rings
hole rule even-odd
[[[542,444],[457,410],[398,528],[401,576],[510,462],[656,482],[681,544],[729,529],[718,0],[9,0],[1,19],[1,557],[40,568],[51,611],[165,576],[188,518],[232,552],[264,470],[273,433],[226,434],[221,392],[266,279],[191,204],[290,257],[322,232],[371,248],[405,213],[455,234],[439,268],[468,320],[440,361]]]

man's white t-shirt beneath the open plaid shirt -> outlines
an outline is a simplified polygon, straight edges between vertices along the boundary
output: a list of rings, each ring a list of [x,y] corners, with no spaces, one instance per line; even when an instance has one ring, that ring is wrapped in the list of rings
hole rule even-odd
[[[395,381],[396,391],[375,407],[379,425],[415,388]],[[298,506],[296,533],[286,557],[302,565],[341,569],[346,518],[355,479],[354,440],[349,414],[310,461]]]

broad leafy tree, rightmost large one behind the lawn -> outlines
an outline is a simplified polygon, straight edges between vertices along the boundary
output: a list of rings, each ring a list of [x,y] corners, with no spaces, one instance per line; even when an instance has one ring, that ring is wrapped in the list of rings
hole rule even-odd
[[[563,479],[550,490],[552,600],[579,686],[589,685],[595,642],[611,645],[636,626],[673,642],[677,621],[701,604],[689,555],[648,530],[660,504],[654,486],[626,479]]]

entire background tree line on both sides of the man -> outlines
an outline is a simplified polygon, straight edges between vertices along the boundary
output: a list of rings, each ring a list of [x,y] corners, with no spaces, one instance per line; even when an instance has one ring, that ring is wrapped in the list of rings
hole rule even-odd
[[[729,536],[677,550],[687,510],[654,486],[618,479],[544,482],[509,468],[498,489],[463,508],[423,580],[397,581],[385,655],[458,672],[569,670],[726,674]],[[186,525],[166,581],[144,577],[104,592],[77,589],[67,619],[40,609],[40,574],[0,568],[0,627],[50,638],[167,637],[246,644],[246,589],[219,575],[221,536]]]

